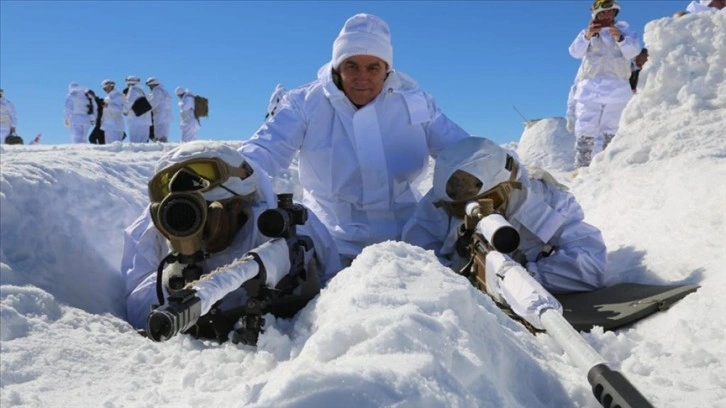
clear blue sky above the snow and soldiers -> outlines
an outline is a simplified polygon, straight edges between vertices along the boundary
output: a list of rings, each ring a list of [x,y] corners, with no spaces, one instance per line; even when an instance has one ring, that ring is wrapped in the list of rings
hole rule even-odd
[[[621,1],[619,20],[642,33],[688,1]],[[63,103],[72,81],[157,77],[206,96],[199,138],[246,140],[270,93],[315,79],[355,13],[392,32],[394,67],[434,95],[473,135],[517,141],[522,118],[564,116],[579,61],[567,52],[590,1],[0,1],[0,84],[18,134],[68,143]],[[647,46],[647,44],[645,44]],[[148,88],[144,87],[145,90]],[[174,99],[176,102],[177,99]],[[179,140],[174,106],[171,141]]]

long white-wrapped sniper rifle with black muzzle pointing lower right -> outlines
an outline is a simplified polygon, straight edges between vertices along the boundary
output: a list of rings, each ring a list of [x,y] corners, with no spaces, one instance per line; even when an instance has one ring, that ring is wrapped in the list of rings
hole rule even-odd
[[[511,308],[530,330],[544,329],[584,371],[595,398],[603,407],[652,407],[620,372],[590,346],[562,316],[562,307],[508,253],[519,247],[519,233],[493,210],[492,200],[466,204],[459,231],[459,249],[465,246],[470,258],[460,273],[503,308]],[[460,251],[462,252],[462,251]],[[536,330],[532,330],[536,331]]]

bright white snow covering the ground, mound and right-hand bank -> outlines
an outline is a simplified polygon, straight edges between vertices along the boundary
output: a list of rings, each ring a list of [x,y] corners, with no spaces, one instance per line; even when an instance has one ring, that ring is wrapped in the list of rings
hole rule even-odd
[[[658,407],[726,407],[724,36],[725,12],[649,23],[620,132],[575,177],[561,118],[510,146],[571,188],[613,281],[702,286],[632,327],[583,333]],[[122,232],[173,147],[0,147],[0,406],[598,406],[549,336],[400,242],[366,248],[295,318],[268,317],[256,349],[137,335]],[[276,185],[299,194],[296,168]]]

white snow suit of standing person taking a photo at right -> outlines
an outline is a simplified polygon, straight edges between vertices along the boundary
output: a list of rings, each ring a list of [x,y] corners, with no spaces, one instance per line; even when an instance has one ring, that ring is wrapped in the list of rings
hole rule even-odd
[[[583,137],[593,138],[595,146],[607,146],[609,139],[618,130],[620,115],[633,92],[630,89],[630,60],[642,49],[635,32],[628,23],[618,21],[623,41],[618,42],[603,28],[600,34],[585,38],[582,30],[570,45],[573,58],[582,59],[582,65],[575,79],[575,135],[578,144]],[[606,140],[606,138],[608,140]],[[599,148],[595,147],[596,153]],[[592,154],[591,153],[591,154]],[[585,166],[589,165],[586,160]],[[577,167],[582,167],[579,163]]]

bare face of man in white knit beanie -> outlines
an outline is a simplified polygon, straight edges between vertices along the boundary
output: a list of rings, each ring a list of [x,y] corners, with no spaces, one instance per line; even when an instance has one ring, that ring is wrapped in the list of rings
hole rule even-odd
[[[345,96],[364,106],[381,93],[388,66],[378,57],[355,55],[343,61],[338,71]]]

